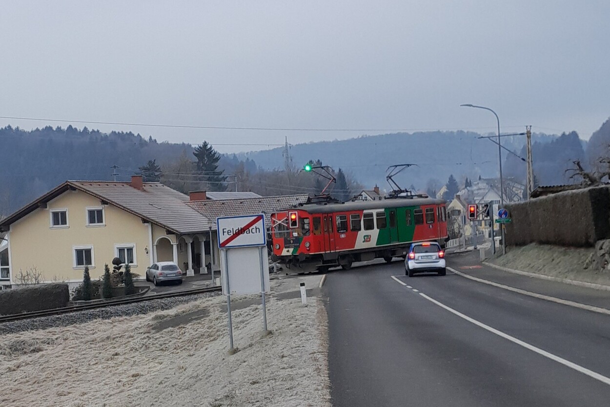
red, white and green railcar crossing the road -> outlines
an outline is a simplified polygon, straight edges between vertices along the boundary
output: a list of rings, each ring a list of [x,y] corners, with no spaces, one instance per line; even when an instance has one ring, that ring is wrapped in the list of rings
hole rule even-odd
[[[351,268],[405,257],[417,241],[447,241],[445,201],[428,197],[307,204],[271,215],[271,259],[290,271]]]

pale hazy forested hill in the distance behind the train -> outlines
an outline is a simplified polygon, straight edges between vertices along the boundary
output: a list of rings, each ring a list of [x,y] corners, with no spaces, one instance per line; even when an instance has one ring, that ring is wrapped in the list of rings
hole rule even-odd
[[[392,164],[414,163],[417,164],[416,167],[406,169],[396,179],[405,187],[414,185],[418,189],[425,189],[429,180],[436,180],[437,184],[440,182],[443,185],[450,174],[458,180],[464,180],[465,177],[472,179],[479,175],[497,177],[498,146],[486,139],[479,139],[480,136],[478,133],[464,131],[382,134],[332,142],[295,144],[290,147],[290,155],[295,167],[302,167],[308,160],[318,158],[324,164],[354,174],[367,188],[372,188],[375,184],[389,188],[385,182],[387,167]],[[557,137],[534,133],[533,141],[542,146]],[[520,152],[525,145],[525,136],[503,137],[502,143],[508,149]],[[281,153],[282,148],[278,148],[244,153],[239,157],[248,157],[260,167],[275,168],[283,165]],[[581,153],[582,147],[575,154],[580,156]],[[565,154],[570,155],[570,151]],[[505,159],[507,155],[503,152]],[[519,171],[517,168],[514,172]],[[522,177],[525,178],[525,169],[522,172]],[[549,179],[548,182],[555,180]]]

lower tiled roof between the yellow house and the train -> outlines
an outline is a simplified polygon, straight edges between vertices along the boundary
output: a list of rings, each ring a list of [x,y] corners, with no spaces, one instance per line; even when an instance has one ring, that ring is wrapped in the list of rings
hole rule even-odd
[[[212,229],[216,229],[216,218],[220,216],[253,215],[254,213],[265,213],[265,226],[270,227],[271,213],[292,208],[298,204],[306,204],[308,200],[309,194],[299,194],[246,199],[193,200],[187,202],[187,205],[210,219],[213,222]]]

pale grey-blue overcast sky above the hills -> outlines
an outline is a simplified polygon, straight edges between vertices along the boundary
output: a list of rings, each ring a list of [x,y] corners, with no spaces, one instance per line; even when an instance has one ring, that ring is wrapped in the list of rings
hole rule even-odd
[[[561,133],[610,116],[610,1],[0,2],[0,116],[159,141],[332,140],[381,129]],[[68,122],[0,119],[30,129]],[[83,124],[76,124],[82,127]]]

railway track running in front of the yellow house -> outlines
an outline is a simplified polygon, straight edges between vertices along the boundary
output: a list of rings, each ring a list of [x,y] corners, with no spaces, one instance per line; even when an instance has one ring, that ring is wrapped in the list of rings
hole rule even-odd
[[[23,312],[21,314],[14,315],[0,315],[0,323],[26,320],[29,318],[39,317],[51,317],[52,315],[68,314],[70,312],[84,311],[88,309],[104,308],[115,305],[143,303],[144,301],[151,301],[153,299],[178,297],[185,295],[201,294],[220,291],[221,287],[202,287],[202,288],[189,288],[188,290],[180,290],[167,293],[159,293],[151,296],[138,296],[132,298],[121,298],[121,299],[110,299],[108,301],[98,301],[91,304],[82,304],[77,306],[68,306],[63,308],[47,309],[42,311]]]

